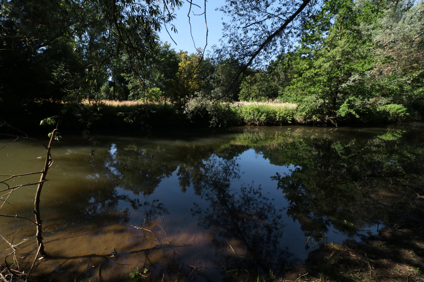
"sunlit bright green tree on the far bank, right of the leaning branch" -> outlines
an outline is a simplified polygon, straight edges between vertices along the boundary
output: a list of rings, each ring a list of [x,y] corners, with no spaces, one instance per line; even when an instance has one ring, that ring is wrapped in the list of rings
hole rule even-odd
[[[326,1],[313,17],[293,56],[297,75],[281,96],[299,104],[301,120],[337,123],[337,116],[346,111],[353,117],[368,113],[376,93],[368,76],[374,52],[371,35],[361,24],[372,21],[369,14],[375,11],[376,19],[381,10],[373,3]],[[345,107],[345,112],[338,112],[346,101],[355,104],[355,110]]]

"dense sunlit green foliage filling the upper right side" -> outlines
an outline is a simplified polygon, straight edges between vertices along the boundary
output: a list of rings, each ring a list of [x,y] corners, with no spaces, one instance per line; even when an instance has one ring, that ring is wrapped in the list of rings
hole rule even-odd
[[[298,104],[301,122],[417,118],[423,106],[423,11],[421,1],[325,1],[298,46],[270,64],[270,83],[254,74],[253,85],[242,85],[241,93],[248,93],[242,98],[275,98],[278,91],[282,101]],[[278,77],[287,74],[288,83]]]

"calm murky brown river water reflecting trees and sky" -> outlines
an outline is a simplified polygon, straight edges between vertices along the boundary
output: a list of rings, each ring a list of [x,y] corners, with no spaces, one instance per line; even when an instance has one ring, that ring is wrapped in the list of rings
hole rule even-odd
[[[423,130],[409,123],[158,131],[96,136],[95,156],[81,137],[64,136],[53,144],[40,203],[48,257],[33,275],[129,281],[134,266],[148,269],[153,281],[281,274],[323,241],[361,241],[416,220],[399,203],[422,187]],[[36,142],[0,150],[4,175],[40,171],[44,162]],[[8,203],[32,218],[34,194],[35,187],[21,187]],[[2,214],[15,212],[4,205]],[[0,219],[3,236],[28,225]],[[22,242],[20,268],[31,266],[34,235],[31,226],[13,239]],[[3,257],[10,252],[6,242],[0,247]]]

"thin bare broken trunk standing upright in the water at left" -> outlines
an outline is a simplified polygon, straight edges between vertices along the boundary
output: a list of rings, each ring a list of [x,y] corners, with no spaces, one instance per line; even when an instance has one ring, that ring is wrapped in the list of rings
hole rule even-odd
[[[54,140],[54,136],[56,134],[56,129],[53,130],[52,136],[50,137],[50,142],[47,147],[47,156],[46,156],[46,162],[44,164],[44,169],[41,173],[40,177],[40,183],[38,184],[37,191],[35,193],[35,200],[34,200],[34,214],[35,214],[35,222],[37,224],[37,233],[36,233],[36,239],[37,239],[37,245],[40,246],[40,255],[45,256],[46,252],[44,251],[44,244],[43,244],[43,225],[42,225],[42,219],[40,216],[40,195],[41,195],[41,189],[43,188],[43,184],[46,180],[47,170],[49,169],[50,165],[53,163],[52,158],[50,155],[50,148],[51,144]]]

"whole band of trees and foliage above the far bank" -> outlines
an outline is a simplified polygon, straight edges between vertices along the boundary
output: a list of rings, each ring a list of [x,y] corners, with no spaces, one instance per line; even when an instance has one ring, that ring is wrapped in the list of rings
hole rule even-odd
[[[167,101],[176,115],[204,115],[212,126],[255,124],[248,117],[262,114],[276,124],[420,118],[422,1],[283,2],[228,1],[220,8],[233,16],[223,26],[223,45],[205,57],[202,49],[177,53],[157,35],[164,27],[176,31],[171,21],[180,1],[3,1],[3,118],[62,110],[86,129],[101,117],[103,99]],[[297,18],[287,22],[290,16]],[[257,49],[261,42],[268,43]],[[296,104],[296,111],[233,104],[269,100]],[[56,107],[45,106],[51,103]],[[126,115],[148,117],[141,110]]]

